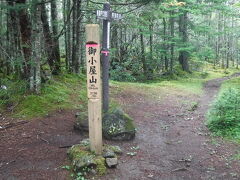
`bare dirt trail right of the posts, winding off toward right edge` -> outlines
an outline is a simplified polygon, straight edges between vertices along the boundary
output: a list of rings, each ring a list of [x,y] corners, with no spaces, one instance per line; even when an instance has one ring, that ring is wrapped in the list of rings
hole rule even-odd
[[[123,104],[135,102],[128,112],[138,126],[134,145],[120,145],[129,152],[134,151],[132,146],[140,149],[134,157],[122,157],[118,168],[103,179],[240,179],[240,162],[231,160],[240,147],[211,138],[204,125],[210,103],[221,83],[229,78],[208,81],[201,97],[170,96],[164,102],[152,102],[147,97],[120,95]],[[189,98],[199,102],[195,111],[181,103]]]

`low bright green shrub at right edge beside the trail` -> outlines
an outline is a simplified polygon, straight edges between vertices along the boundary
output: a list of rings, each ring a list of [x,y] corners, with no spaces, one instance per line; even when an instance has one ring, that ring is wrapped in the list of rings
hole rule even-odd
[[[240,89],[220,94],[208,112],[207,126],[216,135],[240,138]]]

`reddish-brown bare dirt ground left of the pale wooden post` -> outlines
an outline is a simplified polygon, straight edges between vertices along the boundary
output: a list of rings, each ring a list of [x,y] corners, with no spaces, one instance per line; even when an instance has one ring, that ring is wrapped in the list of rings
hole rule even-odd
[[[65,180],[68,146],[86,135],[73,131],[74,111],[0,131],[0,180]],[[11,121],[0,117],[1,121]]]

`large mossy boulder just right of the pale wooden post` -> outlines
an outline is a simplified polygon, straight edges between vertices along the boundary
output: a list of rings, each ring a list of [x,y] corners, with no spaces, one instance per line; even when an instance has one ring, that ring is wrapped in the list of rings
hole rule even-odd
[[[103,117],[103,136],[110,140],[131,140],[136,128],[133,119],[121,109],[114,109]]]

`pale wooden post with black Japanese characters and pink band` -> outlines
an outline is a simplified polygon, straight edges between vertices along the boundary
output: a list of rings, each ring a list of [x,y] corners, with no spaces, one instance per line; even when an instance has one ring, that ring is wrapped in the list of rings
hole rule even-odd
[[[91,151],[102,153],[102,90],[99,25],[86,25],[88,121]]]

